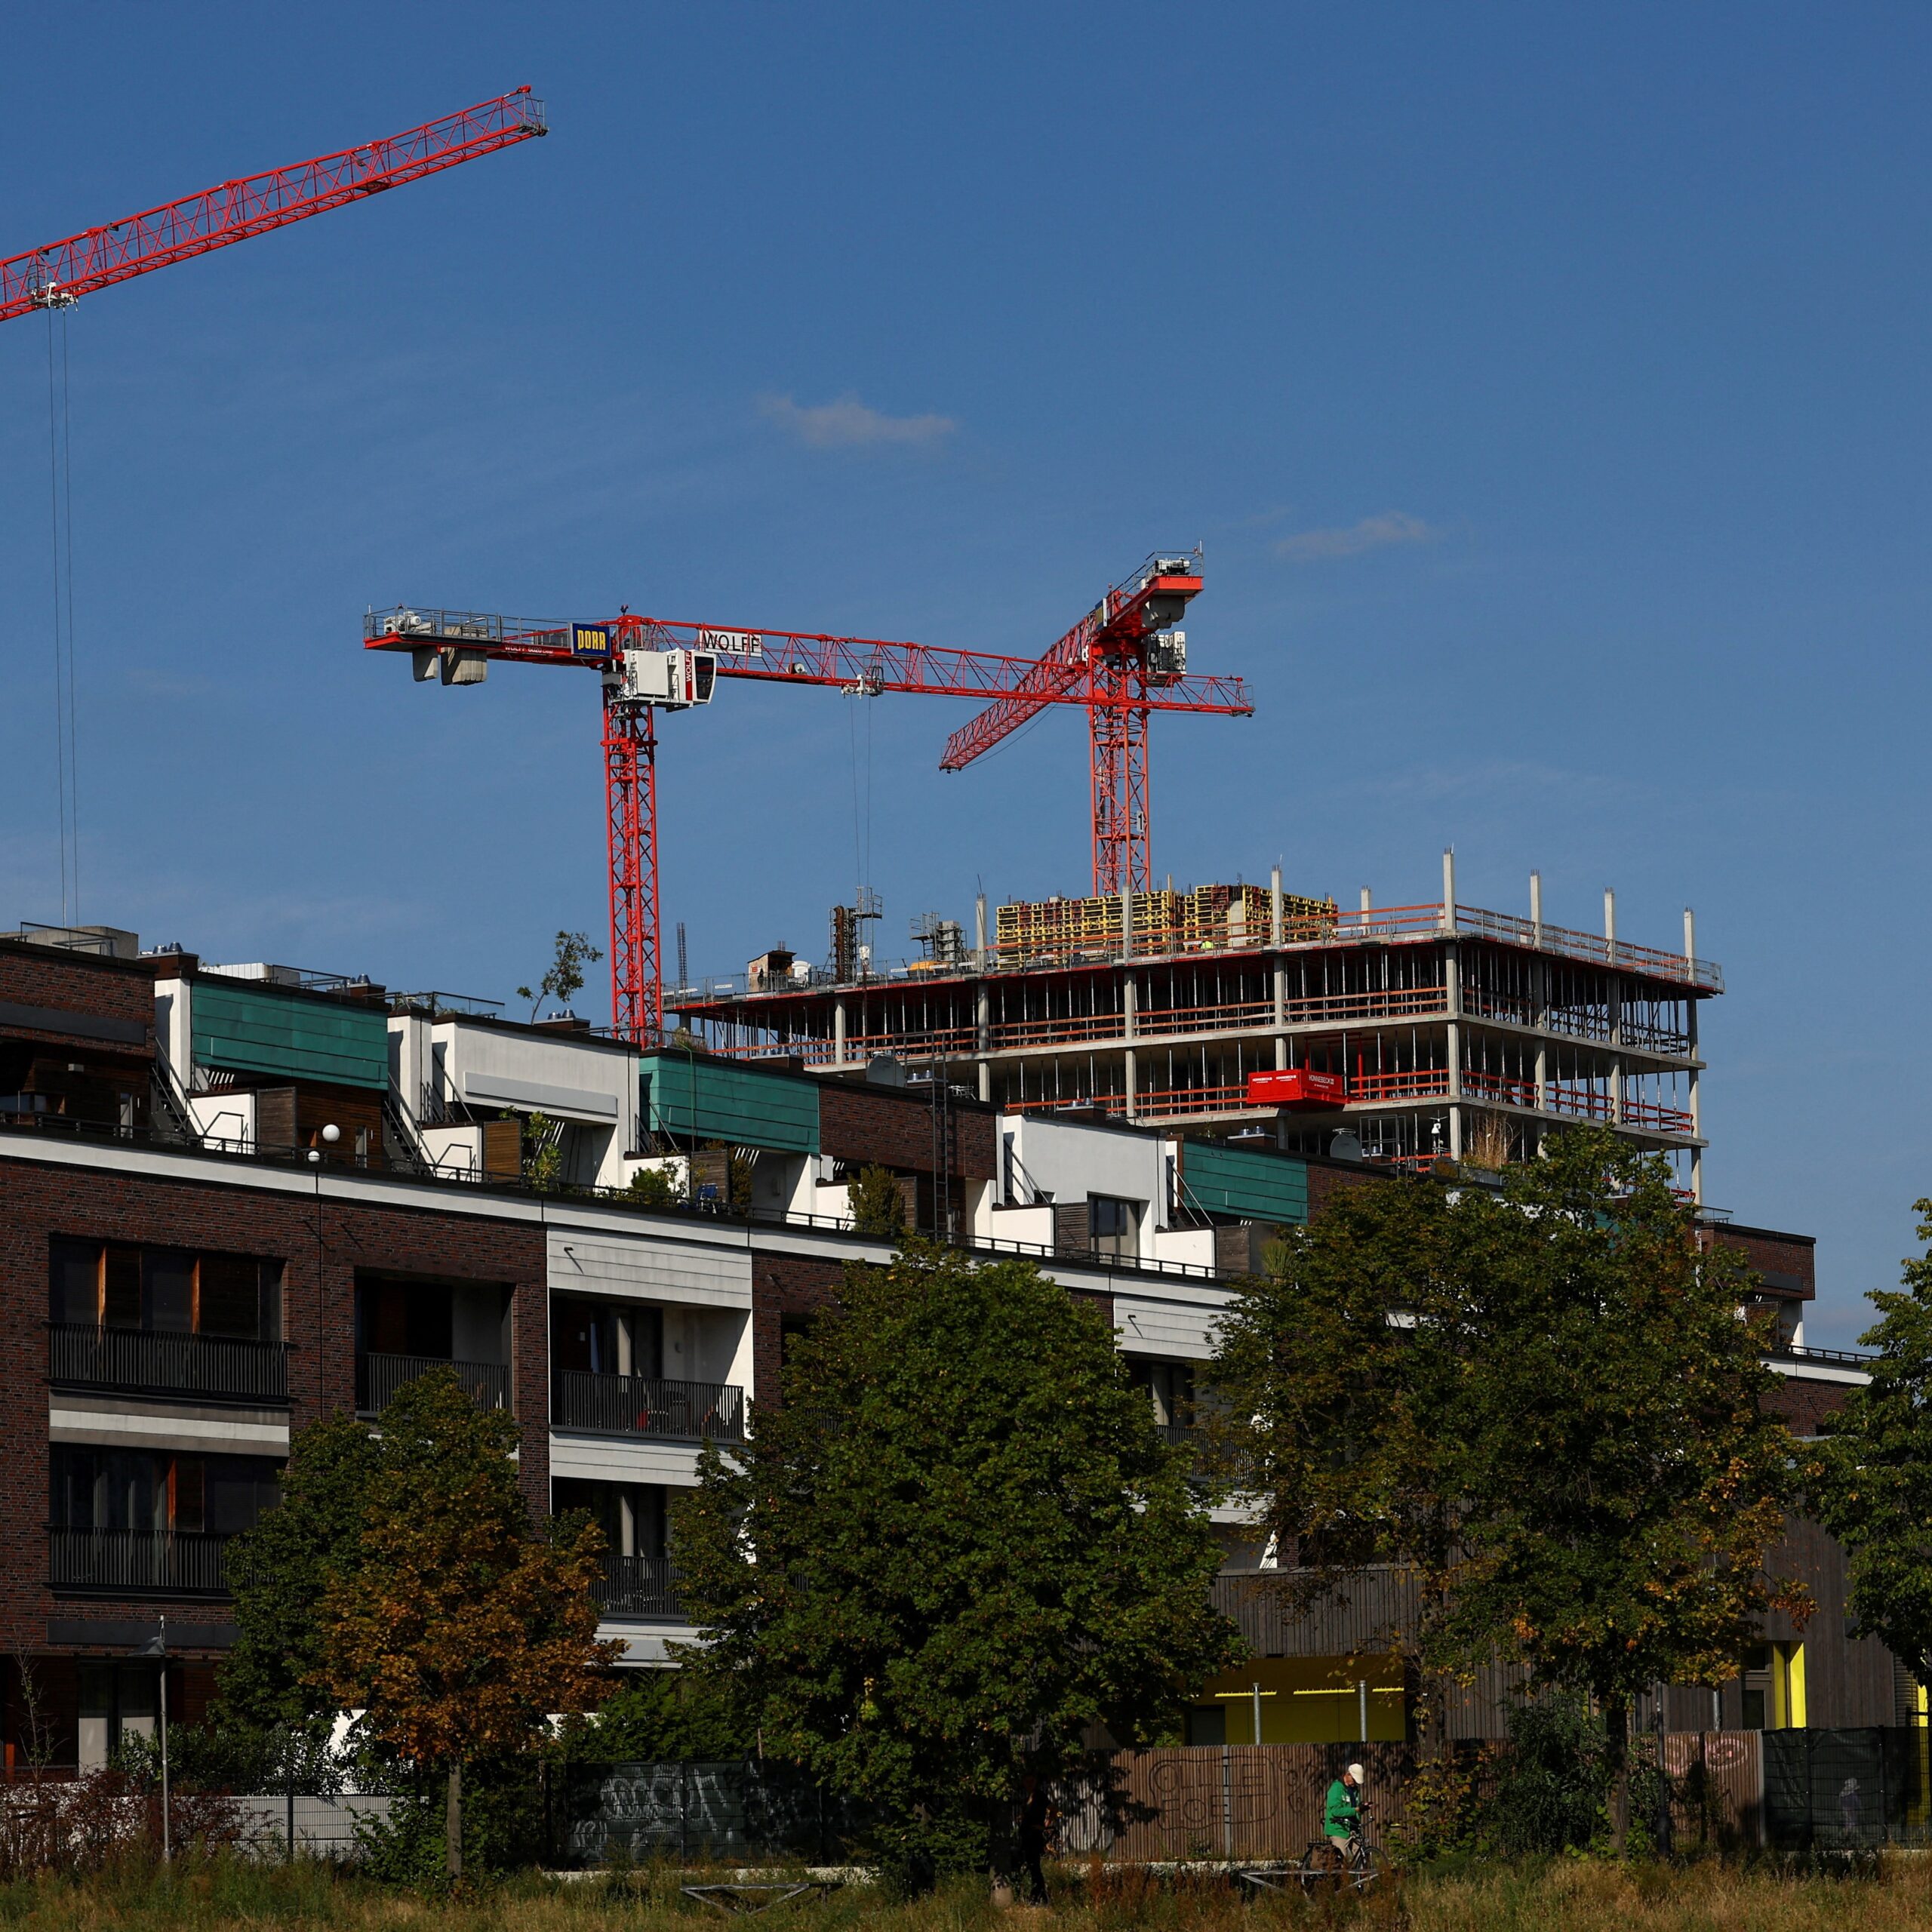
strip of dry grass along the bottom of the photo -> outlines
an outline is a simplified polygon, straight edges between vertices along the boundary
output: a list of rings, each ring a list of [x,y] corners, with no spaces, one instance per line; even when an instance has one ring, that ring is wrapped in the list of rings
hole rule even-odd
[[[678,1895],[688,1872],[541,1878],[425,1899],[336,1878],[325,1866],[189,1862],[0,1886],[0,1924],[48,1932],[180,1932],[249,1926],[313,1932],[694,1932],[723,1920]],[[1289,1926],[1403,1932],[1905,1932],[1932,1926],[1932,1861],[1893,1861],[1876,1876],[1779,1876],[1725,1866],[1611,1866],[1563,1861],[1482,1872],[1410,1874],[1381,1895],[1248,1903],[1221,1884],[1068,1882],[1045,1911],[997,1911],[983,1886],[952,1886],[910,1905],[850,1888],[773,1913],[779,1932],[1285,1932]]]

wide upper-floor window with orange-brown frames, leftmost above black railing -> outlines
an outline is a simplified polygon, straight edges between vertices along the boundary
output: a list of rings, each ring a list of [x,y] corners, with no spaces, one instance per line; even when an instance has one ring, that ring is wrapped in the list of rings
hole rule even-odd
[[[249,1254],[56,1236],[48,1291],[48,1314],[71,1327],[282,1339],[282,1264]]]

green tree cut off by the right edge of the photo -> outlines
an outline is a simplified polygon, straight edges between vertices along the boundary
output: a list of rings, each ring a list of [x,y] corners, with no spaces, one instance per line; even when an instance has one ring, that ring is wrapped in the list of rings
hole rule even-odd
[[[1932,1242],[1932,1200],[1913,1202]],[[1872,1294],[1870,1387],[1824,1424],[1812,1507],[1845,1546],[1845,1607],[1932,1685],[1932,1248],[1903,1264],[1903,1289]]]

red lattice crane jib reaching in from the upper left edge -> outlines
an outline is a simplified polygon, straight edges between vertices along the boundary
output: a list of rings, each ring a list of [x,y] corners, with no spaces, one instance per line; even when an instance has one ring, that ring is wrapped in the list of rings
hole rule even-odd
[[[365,201],[384,187],[419,182],[425,174],[440,174],[539,133],[549,133],[543,102],[520,87],[514,95],[444,114],[386,141],[365,141],[338,155],[222,182],[106,228],[10,255],[0,261],[0,323],[35,309],[64,309],[97,288],[286,228],[350,201]]]

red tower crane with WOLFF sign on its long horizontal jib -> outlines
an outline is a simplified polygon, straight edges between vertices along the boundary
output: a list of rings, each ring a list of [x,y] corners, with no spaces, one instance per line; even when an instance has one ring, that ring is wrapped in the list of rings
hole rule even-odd
[[[1198,580],[1194,589],[1200,589]],[[576,665],[599,672],[611,862],[611,1028],[620,1039],[639,1043],[655,1039],[665,1018],[657,902],[657,711],[709,703],[721,676],[835,686],[866,697],[918,692],[927,697],[1005,699],[1037,668],[1030,659],[987,651],[817,632],[732,630],[632,616],[628,611],[595,624],[558,624],[487,611],[398,605],[363,618],[363,647],[410,651],[417,682],[440,676],[444,684],[481,684],[493,659]],[[1142,738],[1146,711],[1246,715],[1254,709],[1240,678],[1188,678],[1179,667],[1155,670],[1138,690]],[[1036,711],[1049,703],[1092,701],[1090,690],[1078,684],[1028,692]]]

